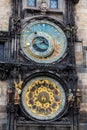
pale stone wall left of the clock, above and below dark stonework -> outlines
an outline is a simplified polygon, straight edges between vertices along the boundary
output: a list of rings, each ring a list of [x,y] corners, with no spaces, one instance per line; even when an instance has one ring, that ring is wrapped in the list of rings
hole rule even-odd
[[[11,16],[11,14],[12,14],[12,1],[11,0],[0,0],[0,45],[3,41],[2,32],[8,32],[9,17]],[[0,56],[1,56],[1,53],[0,53]],[[1,72],[0,72],[0,74],[1,74]],[[6,129],[7,88],[8,88],[8,81],[0,80],[0,130]]]

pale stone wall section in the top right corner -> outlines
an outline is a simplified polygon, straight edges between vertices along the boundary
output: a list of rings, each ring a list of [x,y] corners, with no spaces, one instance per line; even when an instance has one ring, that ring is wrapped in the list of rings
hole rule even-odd
[[[78,26],[78,38],[87,41],[87,0],[80,0],[75,6],[75,19]]]

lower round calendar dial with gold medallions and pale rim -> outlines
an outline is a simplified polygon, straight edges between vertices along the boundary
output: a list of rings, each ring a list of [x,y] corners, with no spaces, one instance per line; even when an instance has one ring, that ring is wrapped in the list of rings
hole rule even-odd
[[[66,96],[61,84],[50,77],[30,80],[22,91],[22,105],[27,114],[50,120],[64,110]]]

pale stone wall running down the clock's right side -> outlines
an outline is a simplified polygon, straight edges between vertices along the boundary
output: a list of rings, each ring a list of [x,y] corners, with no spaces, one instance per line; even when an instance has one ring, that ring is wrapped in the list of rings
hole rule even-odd
[[[82,92],[81,114],[87,119],[87,0],[80,0],[75,6],[75,20],[78,27],[76,43],[78,87]]]

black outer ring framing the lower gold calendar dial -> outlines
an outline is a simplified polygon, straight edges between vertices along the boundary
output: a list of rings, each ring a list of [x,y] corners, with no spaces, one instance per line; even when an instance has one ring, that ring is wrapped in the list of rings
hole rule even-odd
[[[48,76],[48,77],[50,77],[50,78],[54,78],[56,81],[58,81],[58,82],[62,85],[62,87],[63,87],[63,89],[64,89],[64,91],[65,91],[65,96],[66,96],[66,103],[65,103],[65,106],[64,106],[63,111],[62,111],[60,114],[58,114],[56,117],[54,117],[53,119],[50,119],[50,120],[39,120],[39,119],[36,119],[36,118],[32,117],[31,115],[29,115],[28,112],[26,112],[26,110],[25,110],[25,108],[24,108],[24,106],[23,106],[23,104],[22,104],[22,98],[21,98],[21,103],[20,103],[20,109],[21,109],[21,111],[23,112],[23,114],[24,114],[24,116],[25,116],[26,118],[32,119],[32,120],[37,121],[37,122],[39,122],[39,123],[50,123],[50,122],[52,122],[52,121],[55,121],[55,120],[61,118],[61,117],[67,112],[67,110],[68,110],[67,97],[68,97],[68,93],[69,93],[69,88],[68,88],[68,86],[66,85],[66,83],[61,80],[61,78],[59,77],[58,74],[55,74],[55,73],[52,72],[52,71],[50,71],[50,72],[44,72],[44,71],[39,71],[39,70],[38,70],[38,71],[35,71],[35,72],[32,72],[32,73],[25,79],[25,81],[24,81],[24,83],[23,83],[23,88],[24,88],[24,86],[26,85],[26,83],[27,83],[29,80],[31,80],[31,79],[33,79],[33,78],[35,78],[35,77],[38,77],[38,76]],[[22,89],[22,92],[23,92],[23,89]],[[22,97],[22,93],[21,93],[21,97]]]

